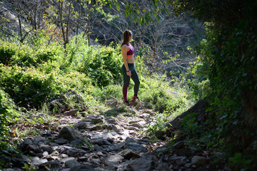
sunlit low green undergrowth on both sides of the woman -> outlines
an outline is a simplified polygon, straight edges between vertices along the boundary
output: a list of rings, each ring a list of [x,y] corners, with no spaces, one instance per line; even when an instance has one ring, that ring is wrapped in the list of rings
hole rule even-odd
[[[77,42],[77,43],[76,43]],[[122,103],[122,57],[120,48],[88,46],[76,36],[66,49],[59,43],[47,44],[44,38],[33,43],[0,41],[1,149],[15,145],[35,130],[19,130],[20,125],[46,123],[56,114],[78,109],[85,114],[99,114],[106,102]],[[159,122],[178,115],[192,105],[187,90],[169,86],[166,76],[149,74],[144,56],[136,57],[140,77],[139,98],[143,108],[160,113]],[[133,81],[129,86],[133,97]],[[44,118],[31,118],[44,113]],[[161,115],[165,113],[165,117]]]

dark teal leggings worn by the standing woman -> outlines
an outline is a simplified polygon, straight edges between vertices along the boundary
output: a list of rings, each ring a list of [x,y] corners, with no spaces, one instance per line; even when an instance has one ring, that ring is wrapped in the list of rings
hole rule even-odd
[[[135,86],[133,88],[134,90],[134,96],[138,96],[138,89],[139,89],[139,78],[138,74],[136,73],[136,69],[133,63],[128,63],[129,66],[129,71],[131,71],[131,78],[133,82],[135,83]],[[121,67],[122,73],[124,75],[124,86],[123,86],[123,94],[124,94],[124,100],[127,100],[127,93],[128,93],[128,88],[129,88],[129,82],[130,82],[130,76],[126,75],[126,67],[123,66]]]

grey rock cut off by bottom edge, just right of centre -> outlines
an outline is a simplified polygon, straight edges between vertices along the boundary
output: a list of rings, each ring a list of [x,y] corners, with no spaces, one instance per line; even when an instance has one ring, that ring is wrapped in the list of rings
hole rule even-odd
[[[146,158],[139,158],[136,160],[132,160],[128,167],[130,167],[133,170],[140,170],[140,171],[151,171],[154,167],[153,160],[149,160]]]

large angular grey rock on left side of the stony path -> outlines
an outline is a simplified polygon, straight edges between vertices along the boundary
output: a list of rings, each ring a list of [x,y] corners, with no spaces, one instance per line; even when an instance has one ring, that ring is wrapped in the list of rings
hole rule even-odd
[[[71,128],[70,126],[65,126],[61,129],[59,133],[59,138],[64,138],[66,140],[72,141],[72,140],[86,140],[84,138],[84,135],[82,135],[79,130],[75,130],[74,128]]]

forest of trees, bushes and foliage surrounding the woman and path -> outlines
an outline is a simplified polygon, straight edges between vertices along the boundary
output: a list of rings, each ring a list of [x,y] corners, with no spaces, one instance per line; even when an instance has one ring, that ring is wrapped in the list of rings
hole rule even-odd
[[[122,105],[119,45],[130,29],[140,98],[159,113],[149,135],[204,99],[208,120],[184,123],[189,140],[225,151],[221,160],[236,168],[257,167],[256,2],[0,3],[2,153],[56,113],[101,113],[109,100]]]

